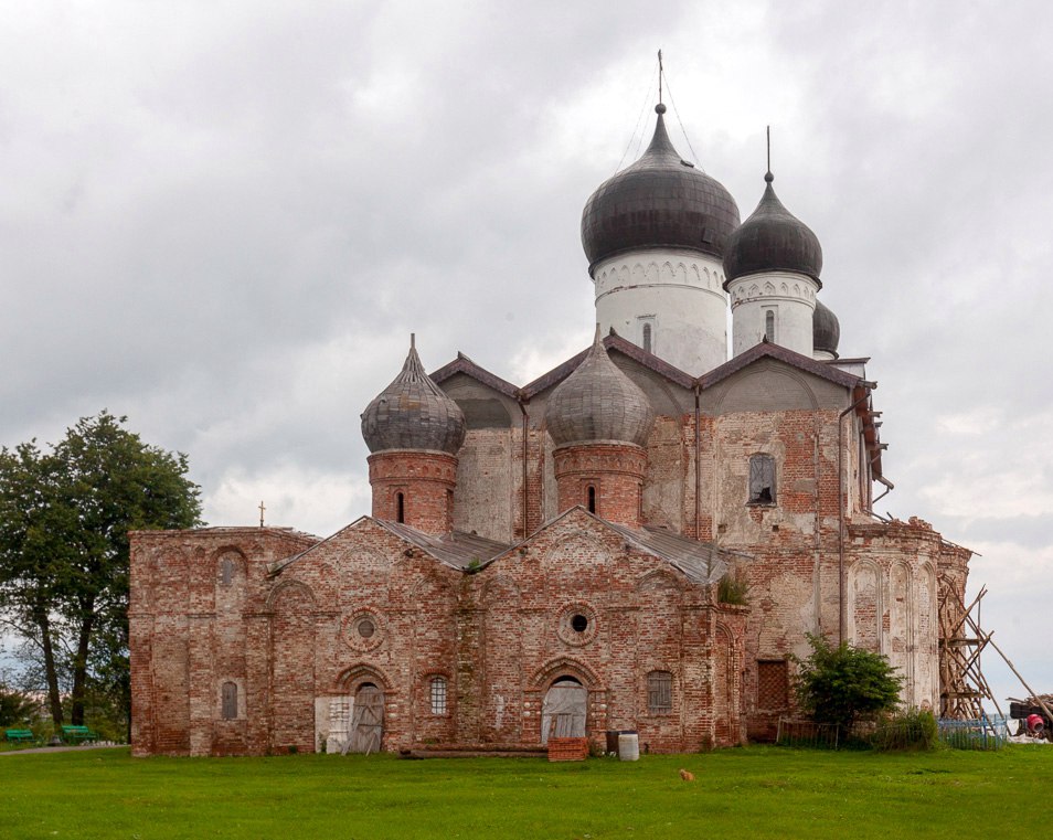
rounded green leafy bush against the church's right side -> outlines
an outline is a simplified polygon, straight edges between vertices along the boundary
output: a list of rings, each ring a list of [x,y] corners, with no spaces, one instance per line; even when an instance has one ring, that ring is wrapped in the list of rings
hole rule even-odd
[[[861,719],[891,712],[900,702],[903,678],[881,653],[845,641],[833,647],[825,636],[808,635],[811,653],[796,659],[797,699],[812,720],[845,730]]]

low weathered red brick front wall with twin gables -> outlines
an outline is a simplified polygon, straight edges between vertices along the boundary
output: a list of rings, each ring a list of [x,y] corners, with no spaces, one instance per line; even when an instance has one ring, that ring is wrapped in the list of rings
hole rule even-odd
[[[385,749],[533,745],[545,692],[562,677],[588,691],[597,748],[608,729],[638,729],[652,751],[740,737],[727,722],[716,730],[710,660],[714,616],[723,616],[734,636],[725,680],[742,670],[741,616],[583,511],[472,575],[371,520],[274,565],[306,542],[265,547],[252,529],[136,536],[137,754],[333,748],[341,713],[368,684],[384,694]],[[168,585],[160,596],[159,584]],[[587,619],[582,630],[577,615]],[[648,709],[655,670],[672,674],[672,706],[660,712]],[[434,677],[446,680],[442,711],[432,706]],[[222,716],[224,682],[240,692],[233,720]],[[728,698],[727,709],[735,703]]]

